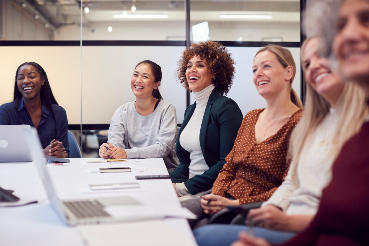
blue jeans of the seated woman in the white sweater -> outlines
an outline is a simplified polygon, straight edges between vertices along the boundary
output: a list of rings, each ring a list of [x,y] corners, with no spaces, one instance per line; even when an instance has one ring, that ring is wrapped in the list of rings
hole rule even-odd
[[[193,231],[199,246],[228,246],[238,240],[240,231],[248,232],[249,227],[246,225],[207,225],[197,228]],[[293,238],[296,233],[273,231],[261,227],[255,227],[254,233],[256,237],[264,238],[269,243],[279,244]]]

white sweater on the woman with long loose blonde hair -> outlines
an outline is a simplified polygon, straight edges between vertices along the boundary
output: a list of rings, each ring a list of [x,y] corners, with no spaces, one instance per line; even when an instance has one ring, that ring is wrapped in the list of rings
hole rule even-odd
[[[337,129],[337,111],[330,112],[311,134],[299,160],[293,160],[284,182],[262,206],[273,204],[287,215],[314,215],[321,192],[332,178],[333,137]]]

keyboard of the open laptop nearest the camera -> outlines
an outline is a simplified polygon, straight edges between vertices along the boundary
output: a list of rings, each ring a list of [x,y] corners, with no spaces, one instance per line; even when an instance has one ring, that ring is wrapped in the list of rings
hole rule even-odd
[[[97,200],[64,202],[64,204],[77,218],[110,217]]]

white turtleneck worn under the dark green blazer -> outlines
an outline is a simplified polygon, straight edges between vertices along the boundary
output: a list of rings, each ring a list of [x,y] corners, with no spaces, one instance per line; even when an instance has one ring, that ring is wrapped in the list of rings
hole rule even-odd
[[[196,101],[196,108],[186,127],[179,136],[179,143],[182,148],[190,152],[191,162],[189,166],[189,179],[193,176],[203,174],[204,171],[209,169],[200,147],[200,128],[207,102],[214,88],[214,84],[211,84],[201,91],[193,92],[193,98]],[[189,193],[184,182],[177,183],[176,190],[181,196]]]

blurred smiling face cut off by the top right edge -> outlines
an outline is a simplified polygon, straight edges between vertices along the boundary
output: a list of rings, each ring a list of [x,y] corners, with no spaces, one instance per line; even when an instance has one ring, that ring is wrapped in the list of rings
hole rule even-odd
[[[369,84],[369,0],[342,3],[333,50],[346,79]]]

